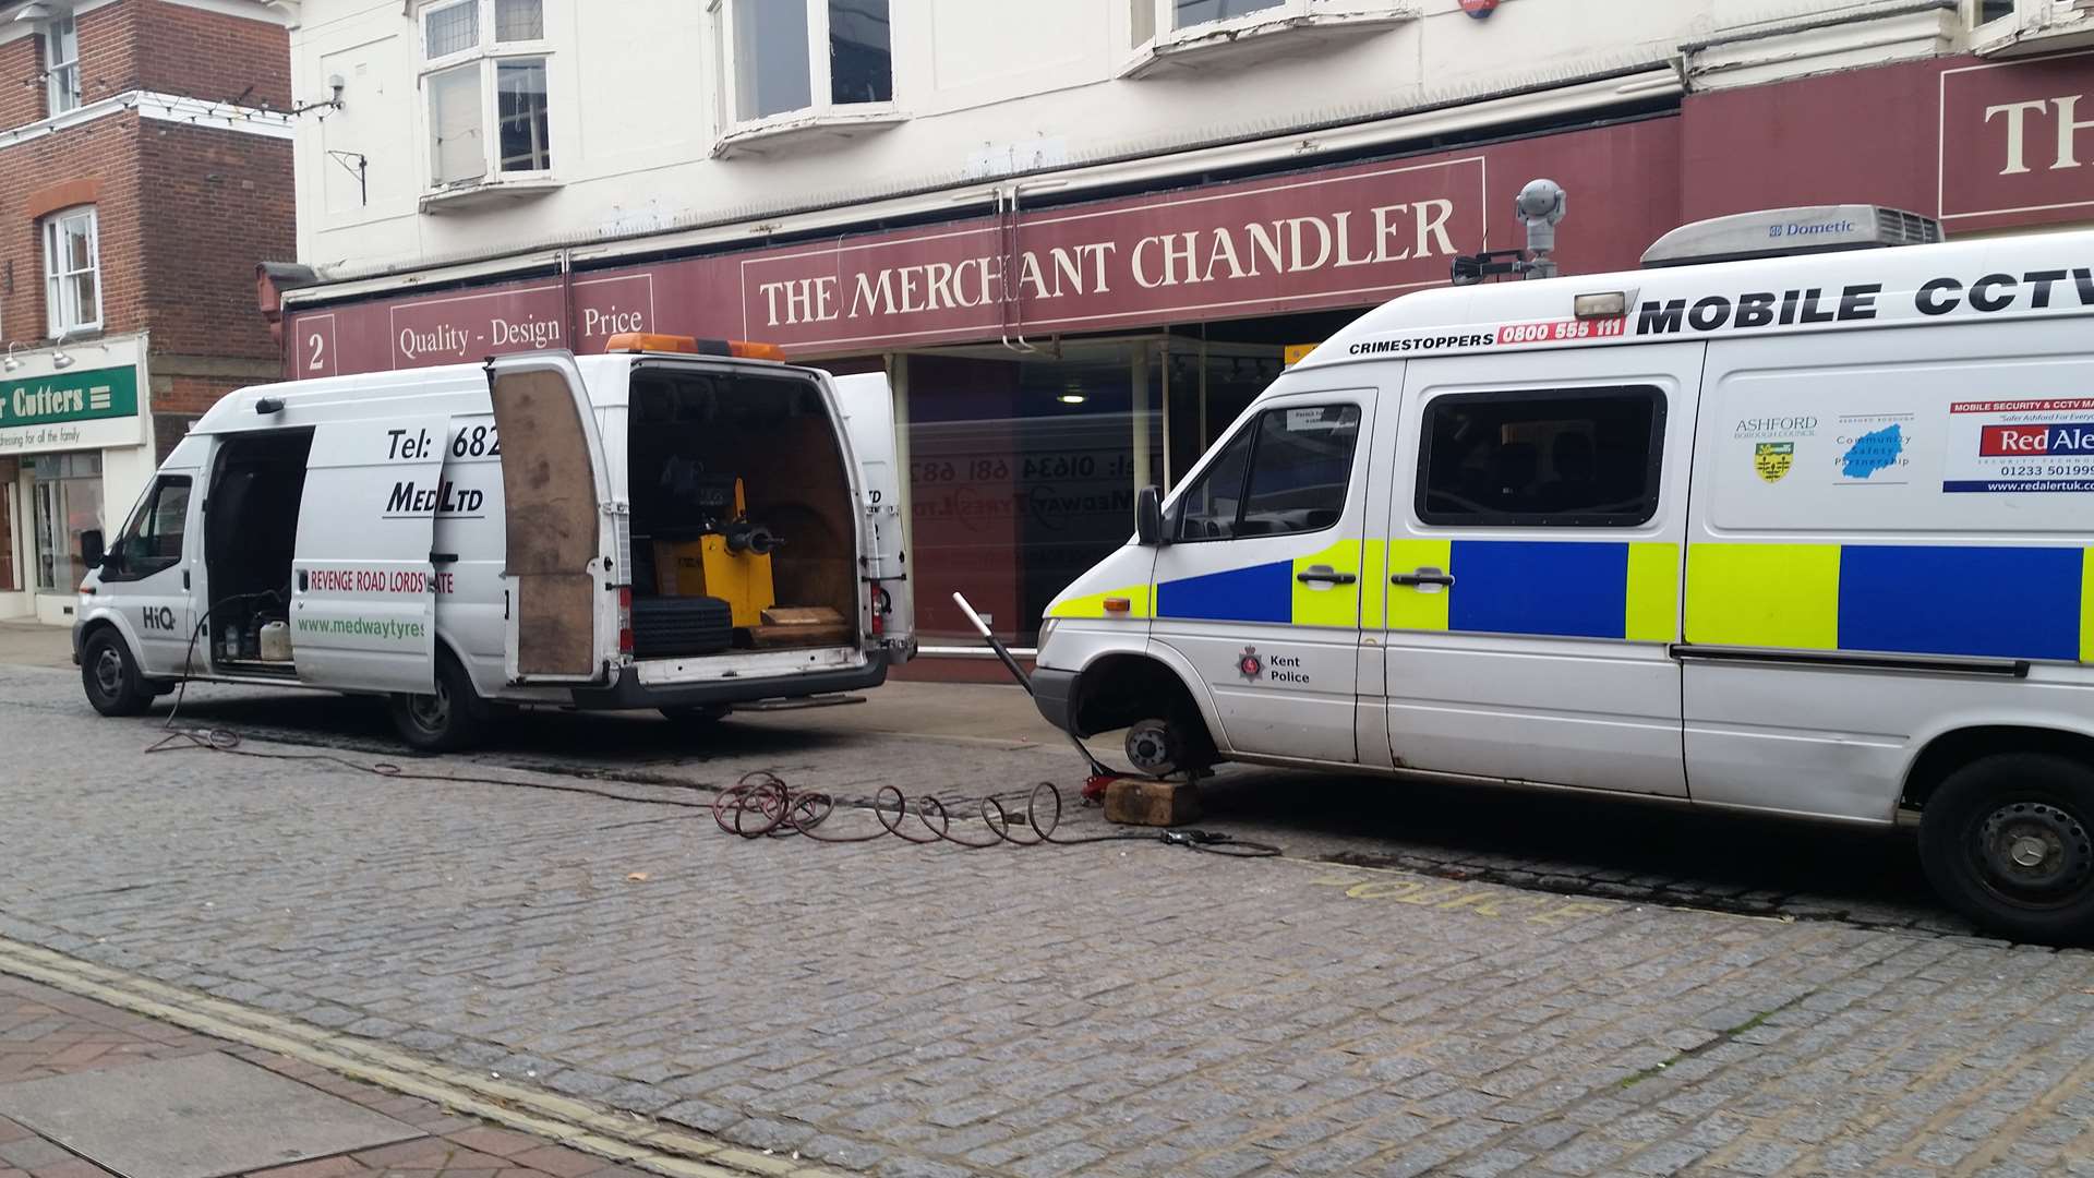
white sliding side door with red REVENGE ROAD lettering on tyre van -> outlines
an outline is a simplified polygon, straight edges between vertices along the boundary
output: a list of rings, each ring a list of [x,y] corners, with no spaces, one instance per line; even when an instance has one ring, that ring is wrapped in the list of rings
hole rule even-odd
[[[291,560],[297,677],[350,692],[436,690],[429,541],[446,417],[337,421],[312,432]]]

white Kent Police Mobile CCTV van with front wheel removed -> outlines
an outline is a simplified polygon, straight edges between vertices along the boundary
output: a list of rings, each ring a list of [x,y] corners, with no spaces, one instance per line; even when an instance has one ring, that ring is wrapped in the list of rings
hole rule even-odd
[[[2094,233],[1788,210],[1409,293],[1137,505],[1034,685],[1150,771],[1916,824],[1979,922],[2094,935]]]

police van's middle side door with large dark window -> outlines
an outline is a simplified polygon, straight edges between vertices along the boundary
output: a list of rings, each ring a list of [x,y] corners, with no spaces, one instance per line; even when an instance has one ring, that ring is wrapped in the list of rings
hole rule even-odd
[[[1702,352],[1407,365],[1378,587],[1395,765],[1686,794],[1671,643]]]

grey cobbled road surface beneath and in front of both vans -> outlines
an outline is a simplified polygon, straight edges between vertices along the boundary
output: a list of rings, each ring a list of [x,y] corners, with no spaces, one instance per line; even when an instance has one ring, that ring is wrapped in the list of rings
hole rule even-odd
[[[356,702],[218,692],[195,715],[398,759]],[[1426,790],[1405,843],[1386,797],[1261,773],[1217,782],[1215,826],[1363,864],[1441,847],[1430,874],[720,836],[676,803],[741,767],[951,797],[1070,778],[1041,746],[771,719],[693,748],[544,717],[415,767],[555,788],[438,784],[142,757],[151,725],[0,669],[0,935],[888,1178],[2094,1174],[2094,956],[1887,926],[1941,924],[1897,843],[1606,807],[1583,824],[1629,834],[1575,855],[1543,830],[1568,809]],[[1839,903],[1491,882],[1568,864],[1589,893],[1702,859],[1746,908],[1818,878]]]

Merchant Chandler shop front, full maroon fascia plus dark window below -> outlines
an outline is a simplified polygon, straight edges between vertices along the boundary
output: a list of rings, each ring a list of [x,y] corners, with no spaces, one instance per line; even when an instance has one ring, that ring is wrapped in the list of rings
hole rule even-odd
[[[1529,180],[1570,193],[1566,275],[1633,268],[1661,233],[1753,208],[1874,201],[1952,233],[2090,222],[2094,124],[2073,117],[2094,111],[2090,78],[2094,52],[1941,59],[1135,197],[1045,205],[1049,184],[1020,187],[1026,212],[903,231],[358,302],[314,287],[285,310],[287,365],[335,375],[664,331],[886,371],[926,646],[972,646],[953,591],[1026,646],[1047,599],[1124,543],[1135,493],[1173,486],[1290,348],[1445,285],[1455,254],[1522,245],[1510,214]]]

